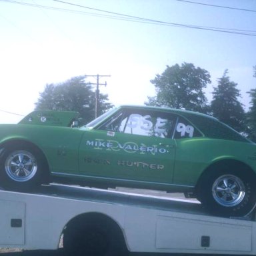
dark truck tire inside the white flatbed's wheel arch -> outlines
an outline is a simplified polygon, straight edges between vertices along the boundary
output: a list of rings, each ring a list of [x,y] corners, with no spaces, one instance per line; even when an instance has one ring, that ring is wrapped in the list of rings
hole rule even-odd
[[[104,223],[88,223],[64,232],[63,247],[69,256],[125,256],[121,231]]]

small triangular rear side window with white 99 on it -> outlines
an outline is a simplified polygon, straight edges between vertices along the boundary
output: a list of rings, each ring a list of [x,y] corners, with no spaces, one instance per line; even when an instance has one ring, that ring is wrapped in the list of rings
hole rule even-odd
[[[189,121],[187,121],[183,117],[179,117],[175,126],[174,139],[193,137],[202,137],[202,135],[194,125],[189,123]]]

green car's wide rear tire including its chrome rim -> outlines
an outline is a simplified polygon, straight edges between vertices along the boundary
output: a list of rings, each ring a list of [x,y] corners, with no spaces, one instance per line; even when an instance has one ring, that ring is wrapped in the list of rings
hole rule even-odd
[[[198,198],[214,215],[243,217],[255,207],[255,177],[245,169],[211,170],[200,184]]]

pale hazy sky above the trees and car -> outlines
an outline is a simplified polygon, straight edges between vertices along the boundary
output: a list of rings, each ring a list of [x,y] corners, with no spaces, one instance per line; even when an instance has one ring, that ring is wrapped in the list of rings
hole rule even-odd
[[[0,0],[0,123],[16,123],[19,115],[33,111],[47,83],[77,75],[111,75],[100,79],[107,81],[100,90],[113,104],[142,105],[155,95],[150,80],[166,65],[183,62],[209,71],[209,101],[217,78],[229,69],[248,108],[246,92],[256,85],[256,1],[191,1],[203,5],[178,0]],[[166,23],[128,21],[114,13]],[[239,30],[223,33],[173,23]],[[87,81],[96,82],[93,77]]]

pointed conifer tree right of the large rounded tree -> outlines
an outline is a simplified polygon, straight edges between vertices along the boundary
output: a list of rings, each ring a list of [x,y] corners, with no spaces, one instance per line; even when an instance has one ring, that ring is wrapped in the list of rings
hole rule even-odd
[[[239,132],[246,132],[245,111],[239,102],[240,91],[237,89],[237,83],[230,81],[227,73],[226,69],[218,79],[218,86],[214,88],[211,111],[213,116],[223,123]]]

